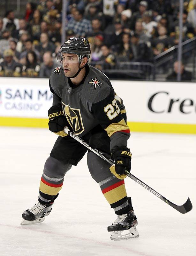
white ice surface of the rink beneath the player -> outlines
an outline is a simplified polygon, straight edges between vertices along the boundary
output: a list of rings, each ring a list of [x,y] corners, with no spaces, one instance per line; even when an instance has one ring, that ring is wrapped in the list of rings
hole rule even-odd
[[[138,219],[139,238],[110,240],[116,215],[87,169],[86,155],[66,174],[51,214],[20,226],[37,203],[43,165],[57,139],[47,129],[0,127],[1,256],[195,256],[196,136],[132,133],[131,172],[175,204],[189,196],[181,214],[129,177],[125,179]]]

